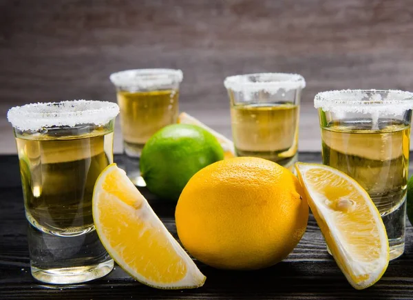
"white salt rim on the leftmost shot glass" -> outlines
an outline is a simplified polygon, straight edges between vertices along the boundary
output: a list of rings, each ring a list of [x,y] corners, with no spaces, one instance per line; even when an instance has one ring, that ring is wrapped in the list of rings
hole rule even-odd
[[[113,102],[73,100],[16,106],[10,108],[7,119],[18,130],[36,131],[52,126],[101,126],[114,119],[118,113],[119,106]]]

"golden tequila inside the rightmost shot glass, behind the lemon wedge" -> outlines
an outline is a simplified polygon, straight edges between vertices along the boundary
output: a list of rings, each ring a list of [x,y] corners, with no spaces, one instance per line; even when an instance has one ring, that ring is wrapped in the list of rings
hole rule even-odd
[[[406,196],[410,126],[403,121],[341,119],[321,128],[323,163],[355,179],[382,216]],[[390,238],[390,237],[389,237]]]

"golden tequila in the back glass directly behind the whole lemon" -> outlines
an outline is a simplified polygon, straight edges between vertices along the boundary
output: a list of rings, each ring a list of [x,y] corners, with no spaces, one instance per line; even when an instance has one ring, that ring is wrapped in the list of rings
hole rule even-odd
[[[288,102],[231,106],[235,150],[286,164],[297,154],[299,106]]]

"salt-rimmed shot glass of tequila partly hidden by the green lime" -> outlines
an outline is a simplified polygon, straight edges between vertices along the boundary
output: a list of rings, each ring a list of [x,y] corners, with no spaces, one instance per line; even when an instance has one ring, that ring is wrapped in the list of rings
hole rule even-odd
[[[178,121],[182,71],[173,69],[125,70],[111,74],[120,107],[125,169],[136,186],[146,186],[140,176],[140,153],[161,128]]]

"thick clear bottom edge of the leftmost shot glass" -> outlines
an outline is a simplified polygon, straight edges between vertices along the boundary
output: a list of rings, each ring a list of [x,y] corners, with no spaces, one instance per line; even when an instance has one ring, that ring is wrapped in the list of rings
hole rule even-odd
[[[82,266],[60,269],[39,269],[32,266],[32,275],[35,279],[54,284],[82,283],[104,277],[114,268],[114,261],[109,259],[94,266]]]

